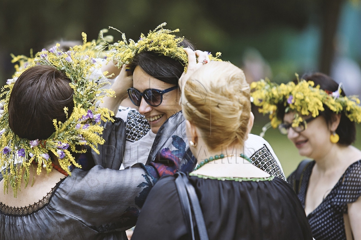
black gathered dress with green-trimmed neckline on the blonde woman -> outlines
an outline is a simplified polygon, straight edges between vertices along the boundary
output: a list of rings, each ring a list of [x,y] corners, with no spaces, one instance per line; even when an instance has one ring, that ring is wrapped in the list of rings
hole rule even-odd
[[[302,205],[284,180],[188,177],[196,188],[209,239],[312,239]],[[154,185],[132,240],[191,239],[174,180],[165,176]]]

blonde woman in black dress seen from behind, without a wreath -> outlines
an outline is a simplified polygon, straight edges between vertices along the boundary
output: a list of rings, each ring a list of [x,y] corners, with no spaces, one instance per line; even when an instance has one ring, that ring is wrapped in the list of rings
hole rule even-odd
[[[187,177],[197,192],[209,239],[312,239],[292,187],[244,154],[253,119],[243,71],[230,62],[201,66],[187,76],[182,108],[199,163]],[[154,185],[132,240],[191,239],[175,179],[165,176]]]

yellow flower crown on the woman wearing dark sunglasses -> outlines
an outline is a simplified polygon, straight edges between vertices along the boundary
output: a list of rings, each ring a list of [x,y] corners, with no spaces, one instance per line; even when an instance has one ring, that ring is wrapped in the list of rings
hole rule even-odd
[[[135,54],[143,51],[151,51],[178,60],[185,65],[185,70],[187,70],[188,56],[183,50],[183,46],[179,46],[179,43],[183,41],[184,37],[178,37],[172,34],[173,32],[179,32],[179,29],[164,29],[163,26],[165,25],[166,22],[161,23],[154,30],[150,30],[147,36],[141,33],[137,42],[129,39],[128,43],[125,34],[122,32],[122,41],[107,44],[109,49],[107,54],[108,59],[116,60],[117,66],[120,67],[123,64],[131,63]],[[109,28],[119,31],[113,27]],[[220,56],[221,52],[217,52],[215,57],[209,53],[210,60],[221,60],[219,59]]]

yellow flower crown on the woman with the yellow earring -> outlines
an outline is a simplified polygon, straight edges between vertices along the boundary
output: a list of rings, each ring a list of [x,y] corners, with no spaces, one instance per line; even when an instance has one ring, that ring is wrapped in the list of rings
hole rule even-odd
[[[296,74],[297,79],[298,75]],[[287,84],[270,82],[268,79],[251,83],[251,97],[253,103],[259,106],[259,112],[270,114],[271,125],[276,128],[282,119],[277,118],[277,105],[286,106],[285,112],[294,111],[296,116],[292,126],[298,126],[303,118],[298,115],[318,116],[319,111],[324,110],[326,105],[335,113],[344,113],[351,121],[361,122],[361,106],[359,99],[355,96],[341,96],[341,88],[335,92],[326,92],[320,86],[314,86],[313,81],[299,80],[298,83],[288,82]]]

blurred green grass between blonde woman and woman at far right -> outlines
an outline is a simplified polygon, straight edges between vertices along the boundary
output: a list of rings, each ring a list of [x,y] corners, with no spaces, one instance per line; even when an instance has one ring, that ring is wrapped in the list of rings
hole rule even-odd
[[[252,128],[251,133],[259,135],[262,131],[262,127],[267,123],[265,119],[257,120],[257,116]],[[283,171],[286,176],[288,176],[294,169],[296,169],[298,163],[306,158],[298,154],[297,148],[293,143],[288,140],[286,135],[282,135],[278,129],[273,129],[272,127],[266,131],[264,135],[270,145],[272,146],[274,152],[276,153],[278,159],[281,162]],[[353,144],[358,149],[361,149],[361,125],[356,124],[356,140]]]

